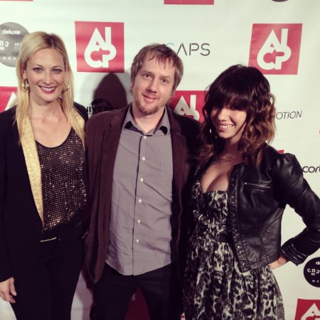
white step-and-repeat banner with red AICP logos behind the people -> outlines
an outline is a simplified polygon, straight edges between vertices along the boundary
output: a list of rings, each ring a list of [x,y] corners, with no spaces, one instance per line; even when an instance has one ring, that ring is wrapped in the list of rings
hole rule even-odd
[[[297,156],[319,195],[319,17],[319,0],[0,0],[0,111],[14,100],[21,39],[33,31],[63,38],[75,74],[75,101],[89,114],[131,101],[129,69],[149,43],[165,43],[183,60],[185,73],[171,107],[199,121],[206,87],[230,65],[252,65],[276,96],[272,145]],[[282,241],[302,228],[302,219],[287,208]],[[320,252],[274,274],[286,320],[320,319]],[[73,320],[88,320],[91,304],[82,275]],[[0,319],[15,319],[2,301]],[[132,297],[129,319],[149,319],[140,294]]]

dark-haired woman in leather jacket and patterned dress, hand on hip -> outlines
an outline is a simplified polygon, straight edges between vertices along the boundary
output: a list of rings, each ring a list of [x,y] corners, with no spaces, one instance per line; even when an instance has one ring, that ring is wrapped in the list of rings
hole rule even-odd
[[[274,96],[257,68],[233,65],[210,85],[191,196],[186,319],[280,320],[272,269],[320,246],[320,201],[292,154],[279,154]],[[281,246],[286,205],[306,228]]]

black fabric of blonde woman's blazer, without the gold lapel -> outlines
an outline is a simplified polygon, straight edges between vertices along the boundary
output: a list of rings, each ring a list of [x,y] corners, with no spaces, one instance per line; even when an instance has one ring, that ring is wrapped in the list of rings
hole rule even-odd
[[[87,120],[85,107],[75,108]],[[0,114],[0,282],[32,269],[42,235],[15,112],[11,108]]]

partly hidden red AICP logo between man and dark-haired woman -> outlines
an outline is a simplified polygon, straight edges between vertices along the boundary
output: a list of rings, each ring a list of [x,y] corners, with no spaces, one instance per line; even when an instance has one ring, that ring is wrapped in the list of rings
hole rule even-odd
[[[205,91],[176,91],[169,107],[177,114],[203,121],[202,107]]]

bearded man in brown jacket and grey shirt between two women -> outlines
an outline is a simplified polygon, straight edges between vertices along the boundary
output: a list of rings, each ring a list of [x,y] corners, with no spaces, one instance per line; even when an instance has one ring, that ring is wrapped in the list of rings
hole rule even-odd
[[[151,320],[180,319],[182,194],[198,134],[198,122],[166,106],[182,75],[174,50],[142,48],[132,63],[132,104],[87,124],[86,262],[97,320],[123,320],[137,285]]]

